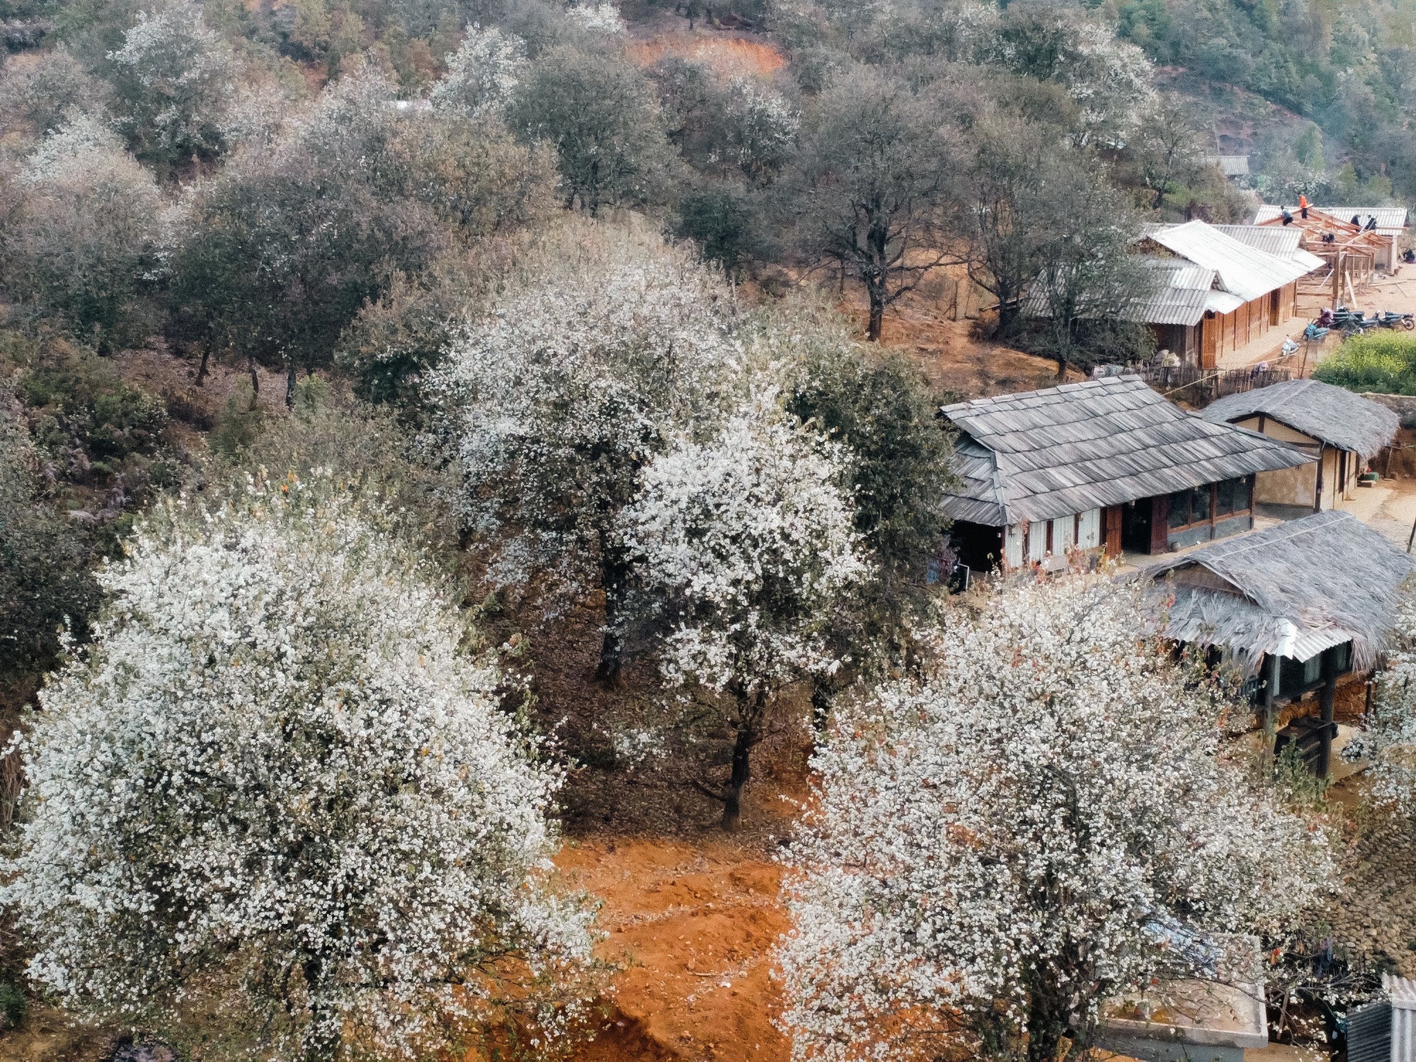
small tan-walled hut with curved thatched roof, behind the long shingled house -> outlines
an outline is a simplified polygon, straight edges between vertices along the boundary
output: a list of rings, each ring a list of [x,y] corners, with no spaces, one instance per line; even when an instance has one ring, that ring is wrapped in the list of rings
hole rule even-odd
[[[1259,473],[1255,503],[1279,510],[1337,508],[1352,497],[1362,469],[1392,443],[1400,426],[1386,406],[1320,379],[1289,379],[1226,395],[1205,406],[1201,416],[1313,455],[1311,464]]]

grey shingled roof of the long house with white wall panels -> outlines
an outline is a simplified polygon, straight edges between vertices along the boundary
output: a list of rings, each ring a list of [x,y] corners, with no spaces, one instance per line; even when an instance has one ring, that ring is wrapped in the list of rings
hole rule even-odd
[[[1107,377],[943,408],[959,428],[954,520],[1052,520],[1313,457],[1187,413],[1138,377]]]

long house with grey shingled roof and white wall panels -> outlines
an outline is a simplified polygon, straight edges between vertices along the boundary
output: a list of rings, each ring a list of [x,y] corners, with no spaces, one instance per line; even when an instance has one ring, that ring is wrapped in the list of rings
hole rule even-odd
[[[1063,562],[1076,549],[1161,554],[1253,527],[1262,472],[1313,462],[1257,432],[1212,423],[1138,377],[956,402],[960,484],[944,498],[974,569]]]

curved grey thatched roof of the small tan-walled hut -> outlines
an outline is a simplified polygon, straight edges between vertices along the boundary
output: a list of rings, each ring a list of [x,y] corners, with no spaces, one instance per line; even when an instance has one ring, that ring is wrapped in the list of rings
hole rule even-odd
[[[1289,379],[1225,395],[1205,406],[1202,416],[1215,423],[1233,423],[1255,413],[1286,423],[1328,446],[1355,450],[1362,460],[1389,446],[1400,426],[1400,418],[1385,405],[1321,379]]]

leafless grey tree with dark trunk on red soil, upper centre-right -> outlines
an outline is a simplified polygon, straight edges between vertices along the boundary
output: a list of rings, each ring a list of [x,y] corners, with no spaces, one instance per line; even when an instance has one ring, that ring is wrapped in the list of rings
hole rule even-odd
[[[940,103],[857,67],[837,75],[807,116],[789,184],[803,249],[865,285],[871,340],[885,309],[929,270],[960,262],[954,139]]]

